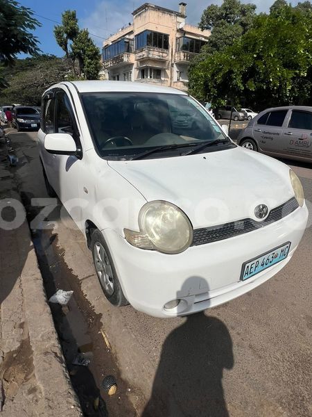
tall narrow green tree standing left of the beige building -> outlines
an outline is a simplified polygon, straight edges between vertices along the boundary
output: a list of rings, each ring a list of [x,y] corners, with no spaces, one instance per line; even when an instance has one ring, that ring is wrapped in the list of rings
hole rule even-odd
[[[62,24],[55,26],[54,35],[71,63],[73,77],[97,79],[101,70],[101,54],[87,29],[79,29],[75,10],[62,13]]]

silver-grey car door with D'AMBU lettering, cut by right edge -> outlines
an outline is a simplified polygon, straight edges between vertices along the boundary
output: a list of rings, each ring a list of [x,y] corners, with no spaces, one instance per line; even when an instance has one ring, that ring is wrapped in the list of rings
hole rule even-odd
[[[292,109],[283,129],[281,154],[312,159],[312,111]]]

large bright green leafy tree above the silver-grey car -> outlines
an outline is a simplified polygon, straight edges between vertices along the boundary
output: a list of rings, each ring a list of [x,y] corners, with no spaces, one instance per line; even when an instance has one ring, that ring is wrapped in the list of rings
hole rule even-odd
[[[214,54],[204,51],[194,60],[189,69],[192,95],[214,106],[239,104],[241,97],[256,108],[311,104],[311,15],[276,3],[270,15],[257,16],[231,46]]]

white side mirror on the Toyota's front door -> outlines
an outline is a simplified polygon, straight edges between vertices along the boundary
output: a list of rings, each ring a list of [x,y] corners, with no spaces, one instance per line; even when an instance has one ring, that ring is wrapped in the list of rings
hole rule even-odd
[[[48,133],[44,138],[44,148],[50,154],[75,155],[81,158],[81,149],[77,149],[76,142],[69,133]]]

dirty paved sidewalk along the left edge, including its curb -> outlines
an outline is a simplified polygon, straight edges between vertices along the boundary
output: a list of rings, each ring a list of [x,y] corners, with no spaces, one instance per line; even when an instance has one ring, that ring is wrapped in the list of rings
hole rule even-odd
[[[15,229],[8,227],[8,222],[15,219],[12,202],[24,218]],[[82,416],[64,365],[14,168],[8,167],[3,141],[0,211],[1,416]]]

